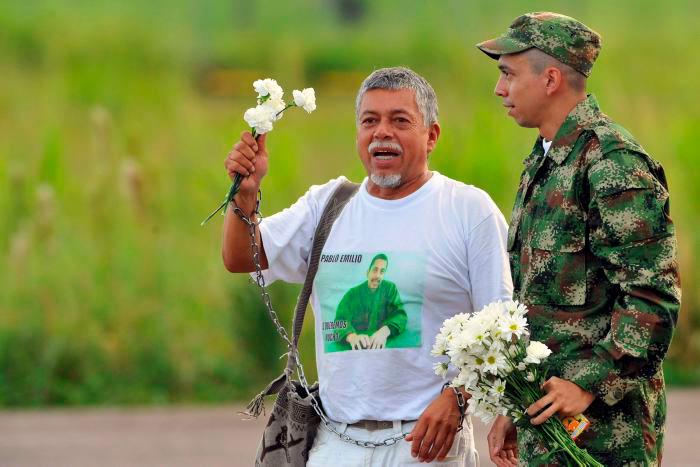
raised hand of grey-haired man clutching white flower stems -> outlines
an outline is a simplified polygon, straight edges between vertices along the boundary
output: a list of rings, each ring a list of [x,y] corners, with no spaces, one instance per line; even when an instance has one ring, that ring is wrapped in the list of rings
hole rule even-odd
[[[224,162],[231,180],[236,173],[243,175],[239,194],[246,199],[254,199],[257,196],[260,182],[267,173],[266,136],[266,134],[260,135],[256,140],[249,131],[244,131]]]

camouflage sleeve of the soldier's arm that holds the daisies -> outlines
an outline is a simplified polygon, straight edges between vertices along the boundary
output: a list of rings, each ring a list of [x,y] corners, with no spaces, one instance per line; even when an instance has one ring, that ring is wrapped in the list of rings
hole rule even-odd
[[[588,184],[591,251],[618,292],[607,335],[572,381],[613,405],[668,350],[680,308],[676,239],[668,191],[645,156],[611,152],[592,164]]]

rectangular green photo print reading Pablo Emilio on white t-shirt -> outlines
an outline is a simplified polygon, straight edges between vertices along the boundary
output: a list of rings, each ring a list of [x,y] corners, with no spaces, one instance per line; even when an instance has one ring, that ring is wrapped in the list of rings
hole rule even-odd
[[[320,291],[325,352],[420,347],[425,256],[323,252]]]

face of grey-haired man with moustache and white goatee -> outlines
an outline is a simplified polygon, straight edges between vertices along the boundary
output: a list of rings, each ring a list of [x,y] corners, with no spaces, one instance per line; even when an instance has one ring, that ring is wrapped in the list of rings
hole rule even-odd
[[[357,152],[370,193],[377,187],[398,191],[425,176],[439,126],[425,127],[412,89],[367,91],[358,114]]]

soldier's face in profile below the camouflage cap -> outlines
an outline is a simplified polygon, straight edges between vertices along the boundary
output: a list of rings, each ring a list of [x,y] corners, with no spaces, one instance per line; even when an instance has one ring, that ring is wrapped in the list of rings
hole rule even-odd
[[[515,122],[526,128],[539,127],[545,111],[546,80],[532,71],[525,53],[501,55],[501,71],[494,92]]]

